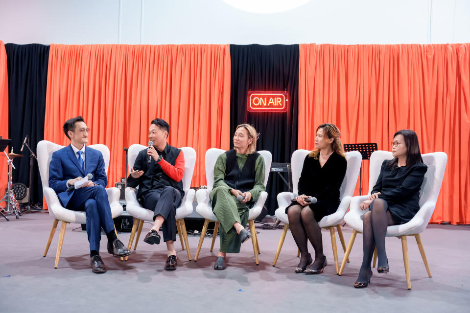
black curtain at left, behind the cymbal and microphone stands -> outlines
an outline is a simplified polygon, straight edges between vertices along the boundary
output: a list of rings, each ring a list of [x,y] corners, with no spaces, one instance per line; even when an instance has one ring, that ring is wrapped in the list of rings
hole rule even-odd
[[[46,112],[48,45],[6,44],[8,67],[8,104],[11,147],[23,157],[16,158],[13,164],[13,182],[21,182],[29,187],[29,151],[20,152],[23,140],[28,135],[28,143],[36,154],[36,146],[44,139],[44,118]],[[43,188],[39,176],[38,163],[33,159],[32,203],[43,201]]]

